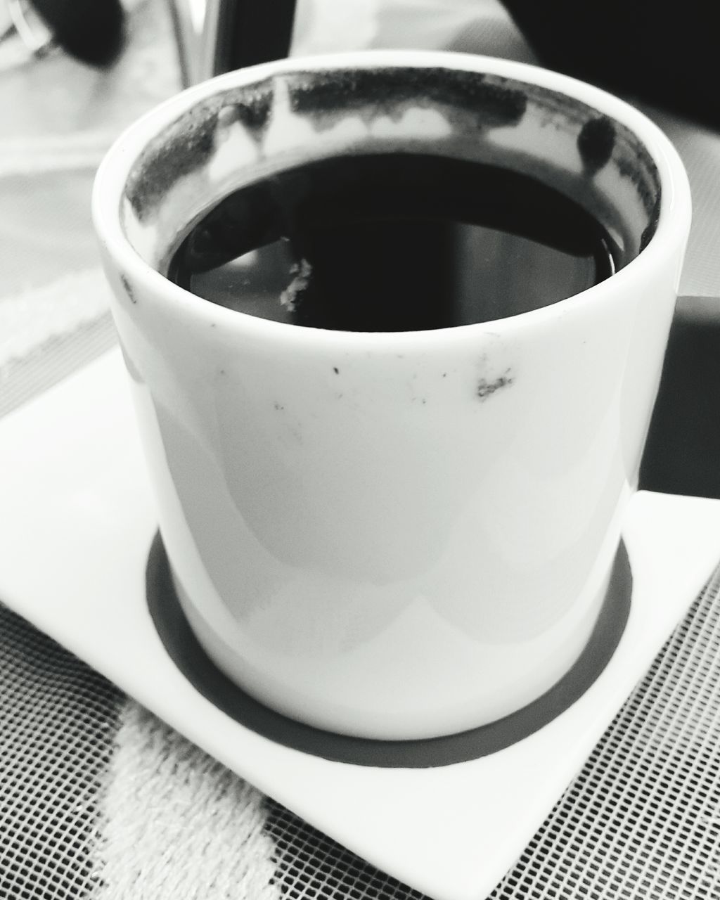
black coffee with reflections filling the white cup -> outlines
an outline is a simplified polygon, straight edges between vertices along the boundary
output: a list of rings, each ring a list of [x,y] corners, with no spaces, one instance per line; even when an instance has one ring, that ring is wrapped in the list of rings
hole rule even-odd
[[[393,153],[320,160],[230,194],[168,277],[266,319],[412,331],[546,306],[617,260],[599,221],[535,178]]]

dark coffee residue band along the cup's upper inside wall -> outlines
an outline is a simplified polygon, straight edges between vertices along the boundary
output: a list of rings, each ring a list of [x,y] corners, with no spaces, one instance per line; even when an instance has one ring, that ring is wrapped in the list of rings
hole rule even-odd
[[[411,104],[434,104],[457,129],[458,139],[471,136],[475,140],[484,131],[518,126],[531,105],[538,107],[541,116],[551,122],[556,119],[568,132],[589,182],[612,163],[617,175],[633,184],[647,216],[635,247],[644,249],[657,229],[661,208],[657,167],[642,142],[621,122],[542,85],[483,72],[412,66],[280,71],[202,100],[150,140],[132,166],[125,196],[137,219],[148,220],[184,175],[202,169],[216,149],[218,133],[234,122],[261,146],[281,93],[290,112],[306,114],[319,134],[337,123],[338,112],[364,116],[367,111],[370,118],[399,119]]]

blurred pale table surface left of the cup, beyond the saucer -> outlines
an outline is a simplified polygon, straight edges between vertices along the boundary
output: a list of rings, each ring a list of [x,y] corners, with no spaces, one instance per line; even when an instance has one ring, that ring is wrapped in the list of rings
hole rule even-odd
[[[166,0],[124,0],[117,53],[89,54],[102,66],[58,44],[35,55],[12,29],[0,0],[0,415],[114,345],[94,172],[123,128],[181,86]]]

